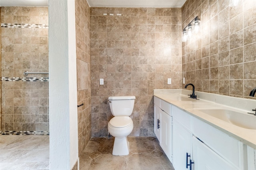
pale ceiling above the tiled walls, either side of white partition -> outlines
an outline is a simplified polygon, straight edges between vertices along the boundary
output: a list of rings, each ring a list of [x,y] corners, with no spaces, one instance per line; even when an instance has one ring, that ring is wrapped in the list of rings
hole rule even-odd
[[[90,7],[180,8],[186,0],[87,0]],[[0,6],[48,6],[48,0],[0,0]]]

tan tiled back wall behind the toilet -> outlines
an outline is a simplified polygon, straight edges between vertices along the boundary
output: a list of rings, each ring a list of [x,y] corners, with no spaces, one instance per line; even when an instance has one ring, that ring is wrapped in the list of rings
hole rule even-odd
[[[154,136],[153,89],[182,87],[181,9],[90,8],[90,28],[92,136],[108,135],[108,97],[127,95],[136,96],[130,135]]]

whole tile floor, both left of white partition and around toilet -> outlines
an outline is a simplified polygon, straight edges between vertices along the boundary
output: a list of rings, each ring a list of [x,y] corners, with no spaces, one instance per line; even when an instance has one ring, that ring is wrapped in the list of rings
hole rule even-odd
[[[174,170],[155,137],[128,137],[130,154],[113,156],[114,137],[92,138],[80,170]],[[49,136],[0,135],[0,170],[48,170]]]

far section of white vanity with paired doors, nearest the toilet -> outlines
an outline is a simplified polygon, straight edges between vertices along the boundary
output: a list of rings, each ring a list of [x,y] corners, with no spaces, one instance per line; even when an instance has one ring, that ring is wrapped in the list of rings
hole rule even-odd
[[[154,97],[154,133],[164,153],[172,161],[171,104],[156,97]]]

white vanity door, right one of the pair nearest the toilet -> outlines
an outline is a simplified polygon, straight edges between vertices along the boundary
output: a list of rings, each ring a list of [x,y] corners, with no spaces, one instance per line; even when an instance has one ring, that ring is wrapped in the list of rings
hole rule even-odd
[[[172,161],[172,117],[161,110],[160,120],[161,142],[164,153]]]

